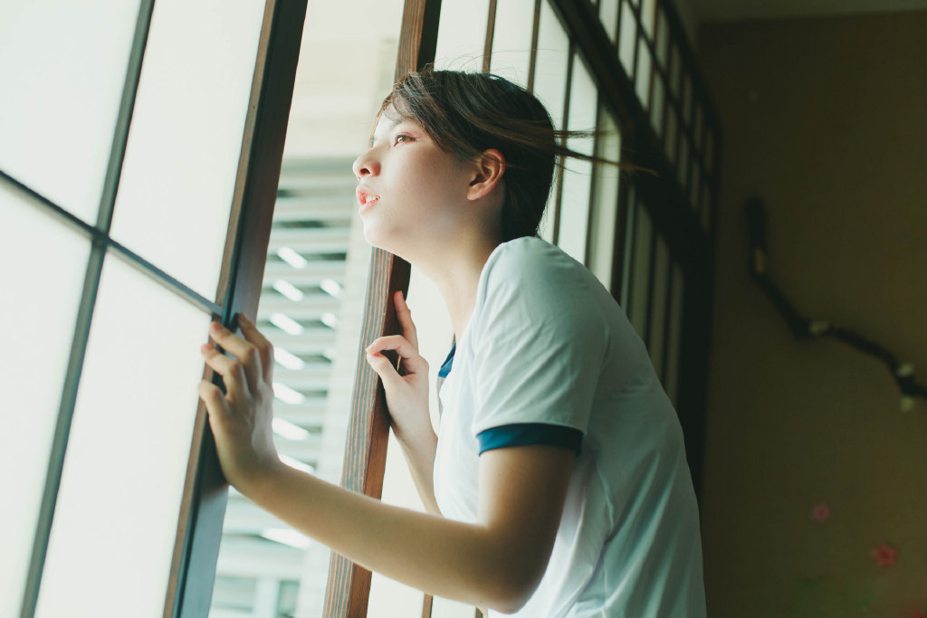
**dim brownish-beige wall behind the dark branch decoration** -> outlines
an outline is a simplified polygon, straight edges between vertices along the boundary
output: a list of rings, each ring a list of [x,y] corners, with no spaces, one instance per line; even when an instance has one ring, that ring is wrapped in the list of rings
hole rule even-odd
[[[723,122],[703,529],[713,618],[927,609],[927,401],[883,364],[797,342],[747,274],[743,202],[795,305],[927,382],[927,12],[703,27]],[[816,523],[826,502],[832,518]],[[870,550],[898,549],[879,568]]]

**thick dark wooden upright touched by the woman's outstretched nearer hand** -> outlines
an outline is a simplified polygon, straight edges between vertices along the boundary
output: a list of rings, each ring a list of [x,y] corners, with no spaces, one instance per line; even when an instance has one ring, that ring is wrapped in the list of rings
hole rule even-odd
[[[267,0],[264,7],[216,292],[222,323],[232,328],[238,313],[253,317],[258,309],[305,16],[306,0]],[[205,408],[200,404],[165,618],[198,618],[209,612],[227,489]]]

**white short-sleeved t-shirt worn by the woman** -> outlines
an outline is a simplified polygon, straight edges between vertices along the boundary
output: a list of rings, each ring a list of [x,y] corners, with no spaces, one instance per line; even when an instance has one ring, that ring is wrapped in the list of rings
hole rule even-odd
[[[641,339],[584,266],[539,238],[498,246],[439,397],[435,495],[451,519],[476,522],[476,435],[511,423],[583,434],[551,561],[514,615],[705,616],[676,412]]]

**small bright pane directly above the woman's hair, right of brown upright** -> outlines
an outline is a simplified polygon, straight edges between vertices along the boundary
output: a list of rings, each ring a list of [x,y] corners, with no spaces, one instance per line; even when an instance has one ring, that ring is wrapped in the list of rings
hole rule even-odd
[[[488,22],[489,0],[442,2],[435,69],[482,70]]]

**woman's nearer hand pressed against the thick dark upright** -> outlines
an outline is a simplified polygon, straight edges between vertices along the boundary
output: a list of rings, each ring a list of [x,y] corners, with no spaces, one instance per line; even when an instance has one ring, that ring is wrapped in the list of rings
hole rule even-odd
[[[283,465],[273,446],[273,346],[244,315],[238,324],[245,338],[219,322],[210,337],[234,358],[210,344],[200,348],[206,364],[222,376],[225,394],[209,381],[199,383],[206,404],[222,472],[229,483],[248,495],[264,473]]]

